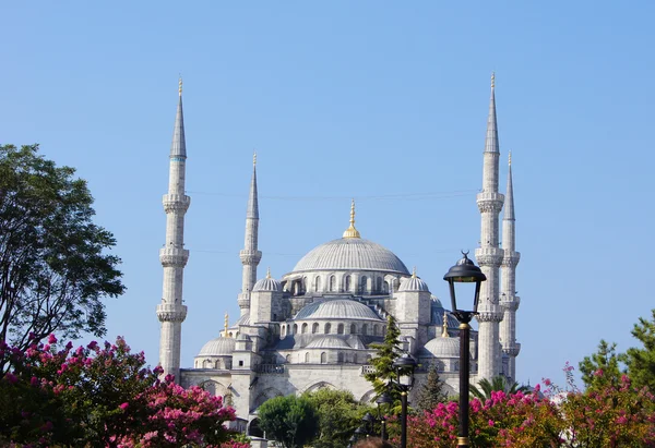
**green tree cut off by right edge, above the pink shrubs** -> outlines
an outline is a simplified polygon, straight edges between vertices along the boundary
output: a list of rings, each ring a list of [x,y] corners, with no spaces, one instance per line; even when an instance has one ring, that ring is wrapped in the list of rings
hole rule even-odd
[[[628,366],[628,375],[634,386],[647,386],[655,392],[655,310],[651,312],[651,318],[640,317],[631,331],[642,347],[628,349],[619,359]]]

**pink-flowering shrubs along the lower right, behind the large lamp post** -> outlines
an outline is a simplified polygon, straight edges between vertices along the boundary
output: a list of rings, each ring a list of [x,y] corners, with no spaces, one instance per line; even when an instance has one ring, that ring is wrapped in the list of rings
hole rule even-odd
[[[508,395],[469,403],[471,447],[655,447],[655,404],[646,389],[636,389],[623,375],[619,386],[582,392],[567,365],[567,391],[544,380],[532,392]],[[598,373],[602,375],[603,373]],[[415,448],[456,447],[458,404],[438,404],[410,415],[407,439]],[[397,420],[390,421],[397,438]]]

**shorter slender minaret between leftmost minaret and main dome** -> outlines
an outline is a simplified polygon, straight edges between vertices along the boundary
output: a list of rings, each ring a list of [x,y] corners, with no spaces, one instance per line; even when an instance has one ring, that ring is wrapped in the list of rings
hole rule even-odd
[[[250,313],[250,291],[257,281],[257,266],[262,259],[262,253],[258,251],[259,235],[259,204],[257,198],[257,154],[252,155],[252,180],[250,181],[250,194],[248,195],[248,209],[246,210],[246,241],[243,250],[239,253],[243,264],[243,277],[241,280],[241,293],[239,294],[239,307],[241,316]]]

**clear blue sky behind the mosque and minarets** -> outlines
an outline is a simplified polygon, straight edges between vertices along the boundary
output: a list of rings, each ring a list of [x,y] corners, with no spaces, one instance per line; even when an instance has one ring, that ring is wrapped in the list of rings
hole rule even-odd
[[[561,383],[600,338],[630,347],[655,307],[653,16],[648,1],[3,2],[0,143],[40,143],[88,180],[128,287],[107,302],[108,338],[156,364],[182,74],[191,366],[238,315],[253,149],[260,277],[338,238],[354,196],[362,237],[448,299],[443,274],[479,240],[496,71],[522,253],[517,375]]]

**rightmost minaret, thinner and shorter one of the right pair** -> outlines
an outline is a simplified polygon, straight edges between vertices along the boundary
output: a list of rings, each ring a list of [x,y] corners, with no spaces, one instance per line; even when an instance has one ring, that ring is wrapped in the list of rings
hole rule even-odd
[[[516,310],[521,299],[516,295],[516,265],[521,254],[515,251],[515,217],[514,217],[514,187],[512,185],[512,153],[509,156],[508,191],[504,199],[504,215],[502,218],[502,247],[503,257],[501,266],[501,294],[500,306],[503,310],[503,318],[500,324],[500,341],[502,352],[509,358],[508,372],[513,380],[516,379],[516,355],[521,351],[521,344],[516,342]]]

